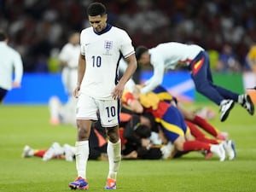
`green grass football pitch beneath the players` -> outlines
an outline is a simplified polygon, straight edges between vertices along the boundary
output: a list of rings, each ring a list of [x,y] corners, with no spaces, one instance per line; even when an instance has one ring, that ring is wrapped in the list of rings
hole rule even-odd
[[[120,192],[251,192],[256,191],[256,116],[236,104],[221,123],[218,108],[212,125],[229,132],[236,143],[236,160],[204,160],[197,152],[176,160],[123,160],[118,174]],[[190,108],[195,108],[195,103]],[[199,104],[197,104],[199,106]],[[74,144],[76,128],[49,125],[47,106],[0,106],[0,191],[70,191],[77,176],[75,162],[38,157],[21,158],[23,147],[49,148],[51,143]],[[105,191],[108,161],[89,160],[89,191]]]

